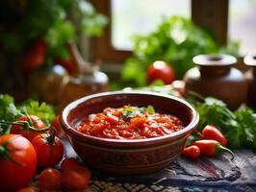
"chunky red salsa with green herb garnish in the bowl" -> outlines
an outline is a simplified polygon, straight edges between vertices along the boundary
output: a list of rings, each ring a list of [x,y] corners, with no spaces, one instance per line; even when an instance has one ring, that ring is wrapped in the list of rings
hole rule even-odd
[[[152,106],[105,108],[102,112],[90,114],[77,126],[79,132],[114,139],[152,138],[183,128],[179,118],[155,112]]]

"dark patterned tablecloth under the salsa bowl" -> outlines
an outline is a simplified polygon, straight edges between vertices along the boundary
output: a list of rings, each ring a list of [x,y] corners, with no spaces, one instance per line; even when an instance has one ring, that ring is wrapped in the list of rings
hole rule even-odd
[[[69,142],[64,140],[64,144],[66,156],[76,157]],[[248,150],[236,151],[233,160],[229,154],[197,160],[180,156],[165,169],[144,176],[112,176],[93,169],[91,172],[87,192],[256,191],[256,154]]]

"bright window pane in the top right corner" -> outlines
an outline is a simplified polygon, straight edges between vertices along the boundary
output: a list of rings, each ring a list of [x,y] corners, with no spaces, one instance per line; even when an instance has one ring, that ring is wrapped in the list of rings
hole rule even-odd
[[[229,37],[241,42],[240,53],[256,53],[256,0],[229,1]]]

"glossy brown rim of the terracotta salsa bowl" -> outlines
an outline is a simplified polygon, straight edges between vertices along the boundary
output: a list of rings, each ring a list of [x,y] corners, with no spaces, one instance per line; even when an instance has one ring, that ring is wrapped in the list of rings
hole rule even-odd
[[[185,105],[187,108],[189,108],[189,110],[192,111],[192,120],[184,129],[182,129],[181,131],[178,131],[178,132],[173,132],[171,134],[166,134],[164,136],[153,137],[153,138],[127,139],[127,140],[101,138],[101,137],[91,136],[91,135],[76,131],[73,127],[71,127],[67,123],[67,116],[72,109],[77,108],[79,105],[82,105],[83,103],[89,101],[90,99],[97,98],[97,97],[111,96],[111,95],[113,95],[113,96],[116,96],[116,95],[151,95],[151,96],[156,96],[156,97],[165,97],[167,99],[174,100],[175,102],[181,103],[182,105]],[[148,143],[148,142],[151,143],[151,142],[162,141],[162,140],[166,140],[166,139],[167,140],[170,140],[170,139],[175,140],[180,137],[186,136],[197,127],[197,124],[199,122],[199,114],[194,108],[192,108],[191,104],[189,104],[187,101],[185,101],[181,98],[175,97],[175,96],[171,96],[171,95],[167,95],[167,94],[163,94],[163,93],[151,92],[151,91],[134,91],[134,90],[133,91],[123,91],[122,90],[122,91],[108,91],[108,92],[96,93],[96,94],[82,97],[78,100],[71,102],[61,112],[60,122],[61,122],[64,132],[67,133],[69,136],[71,136],[71,138],[75,137],[77,139],[80,138],[83,141],[85,141],[86,139],[89,139],[89,140],[94,140],[94,141],[98,141],[98,142],[105,142],[105,143],[110,142],[110,143],[116,143],[119,145],[121,145],[121,144],[127,145],[127,144],[132,144],[132,143]]]

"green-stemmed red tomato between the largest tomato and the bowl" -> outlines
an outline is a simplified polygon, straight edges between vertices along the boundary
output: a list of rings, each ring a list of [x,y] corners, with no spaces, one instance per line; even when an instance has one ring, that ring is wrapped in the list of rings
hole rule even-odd
[[[38,165],[41,167],[53,167],[64,156],[64,144],[57,136],[48,133],[39,134],[32,140],[32,144],[38,155]]]

